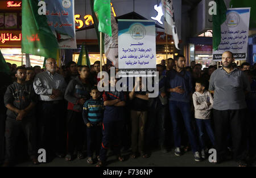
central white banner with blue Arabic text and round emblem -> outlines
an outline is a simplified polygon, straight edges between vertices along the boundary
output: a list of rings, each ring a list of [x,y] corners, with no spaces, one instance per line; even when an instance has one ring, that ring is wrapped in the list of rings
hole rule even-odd
[[[155,76],[154,21],[118,19],[118,69],[121,77]]]

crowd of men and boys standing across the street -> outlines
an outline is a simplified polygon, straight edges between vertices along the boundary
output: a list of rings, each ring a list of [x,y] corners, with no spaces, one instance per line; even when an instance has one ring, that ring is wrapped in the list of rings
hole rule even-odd
[[[256,158],[256,63],[237,66],[229,51],[222,63],[202,70],[195,61],[185,67],[182,55],[163,60],[156,98],[142,91],[141,78],[140,91],[135,84],[133,91],[99,92],[100,61],[57,67],[48,58],[46,69],[7,63],[11,75],[0,75],[0,163],[15,165],[24,148],[33,164],[45,149],[47,162],[86,158],[104,166],[108,150],[122,162],[123,151],[149,158],[174,147],[176,156],[192,150],[195,161],[214,148],[214,163],[234,158],[247,166]]]

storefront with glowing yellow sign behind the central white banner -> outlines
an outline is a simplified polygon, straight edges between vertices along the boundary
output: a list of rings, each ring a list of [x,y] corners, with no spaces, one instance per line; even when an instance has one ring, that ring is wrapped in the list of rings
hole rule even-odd
[[[116,19],[147,19],[153,20],[158,16],[158,11],[155,6],[159,6],[160,0],[141,0],[141,1],[119,1],[112,0],[112,10]],[[147,6],[145,6],[147,5]],[[174,6],[180,11],[176,11],[175,19],[177,20],[177,31],[181,32],[181,1],[174,0]],[[100,49],[98,49],[97,36],[94,27],[92,26],[92,11],[90,9],[90,1],[75,1],[75,22],[76,22],[76,38],[78,49],[81,48],[82,42],[88,46],[90,63],[100,60]],[[135,14],[135,15],[134,15]],[[156,23],[156,63],[167,58],[174,58],[179,52],[174,46],[174,41],[171,36],[168,36],[166,43],[166,35],[164,34],[163,16],[158,16]],[[160,23],[159,23],[160,22]],[[82,30],[84,29],[84,30]],[[181,39],[181,33],[178,34]],[[73,50],[72,60],[77,61],[80,50]],[[104,63],[106,57],[104,55]]]

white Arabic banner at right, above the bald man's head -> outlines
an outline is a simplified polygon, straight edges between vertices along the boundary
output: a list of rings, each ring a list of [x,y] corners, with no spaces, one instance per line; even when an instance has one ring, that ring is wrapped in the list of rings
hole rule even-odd
[[[213,52],[213,60],[221,60],[222,53],[229,50],[236,60],[246,60],[250,7],[226,11],[226,21],[221,25],[221,43]]]

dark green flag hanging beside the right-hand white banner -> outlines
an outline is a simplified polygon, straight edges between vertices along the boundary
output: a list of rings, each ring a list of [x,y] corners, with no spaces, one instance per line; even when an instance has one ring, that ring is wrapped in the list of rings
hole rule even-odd
[[[224,0],[215,0],[217,5],[217,14],[213,15],[213,37],[212,45],[213,50],[218,49],[218,45],[221,42],[221,24],[226,20],[226,5]]]

